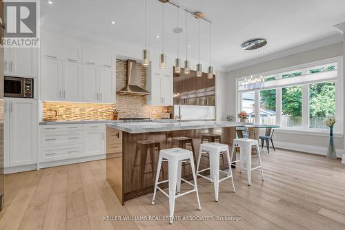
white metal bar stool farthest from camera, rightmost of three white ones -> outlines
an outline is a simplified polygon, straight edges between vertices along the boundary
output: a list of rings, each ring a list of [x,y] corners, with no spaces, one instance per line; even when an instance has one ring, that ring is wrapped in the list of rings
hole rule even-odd
[[[257,150],[257,156],[259,157],[259,166],[252,168],[252,147],[255,147]],[[259,142],[254,139],[249,138],[237,138],[233,140],[233,150],[231,151],[230,158],[233,159],[233,154],[235,151],[235,147],[239,147],[239,160],[235,160],[231,162],[231,165],[235,165],[234,163],[240,163],[239,169],[241,169],[241,173],[243,172],[244,160],[246,160],[246,170],[247,170],[247,180],[248,185],[250,186],[250,180],[252,177],[252,170],[260,169],[262,180],[264,179],[264,171],[262,171],[262,160],[261,160],[261,153],[259,149]],[[238,166],[238,165],[236,165]]]

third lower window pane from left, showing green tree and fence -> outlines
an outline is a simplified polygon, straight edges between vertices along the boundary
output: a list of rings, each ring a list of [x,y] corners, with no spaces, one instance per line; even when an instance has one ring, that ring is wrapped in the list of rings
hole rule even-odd
[[[302,126],[302,86],[282,88],[282,127]]]

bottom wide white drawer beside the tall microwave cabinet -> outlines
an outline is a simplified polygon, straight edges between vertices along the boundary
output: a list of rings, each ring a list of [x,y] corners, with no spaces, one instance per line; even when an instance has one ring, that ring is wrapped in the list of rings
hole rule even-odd
[[[39,162],[66,160],[83,156],[83,145],[66,145],[39,148]]]

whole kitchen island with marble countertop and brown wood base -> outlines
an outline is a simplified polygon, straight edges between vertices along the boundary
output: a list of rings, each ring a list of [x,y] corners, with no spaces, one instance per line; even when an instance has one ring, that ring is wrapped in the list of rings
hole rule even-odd
[[[127,200],[152,193],[161,149],[190,149],[196,163],[201,141],[217,141],[231,147],[237,125],[216,121],[108,123],[106,179],[124,205]],[[226,158],[221,158],[220,165],[222,169],[228,168]],[[208,158],[202,157],[200,169],[206,167]],[[190,165],[184,163],[182,176],[190,180],[191,174]],[[159,180],[167,179],[168,163],[163,163]]]

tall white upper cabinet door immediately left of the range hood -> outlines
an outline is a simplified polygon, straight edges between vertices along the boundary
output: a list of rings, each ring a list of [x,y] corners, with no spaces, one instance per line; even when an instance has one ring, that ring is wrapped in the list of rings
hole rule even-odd
[[[115,76],[111,68],[101,67],[100,99],[103,103],[115,103]]]

